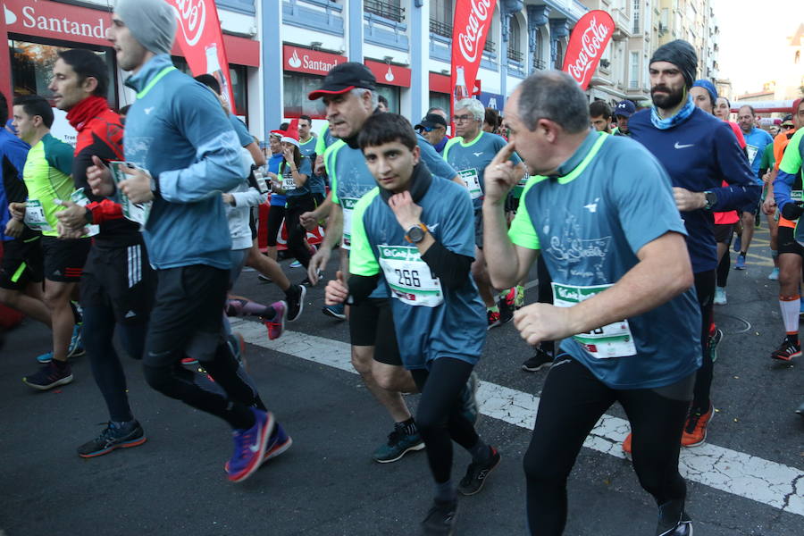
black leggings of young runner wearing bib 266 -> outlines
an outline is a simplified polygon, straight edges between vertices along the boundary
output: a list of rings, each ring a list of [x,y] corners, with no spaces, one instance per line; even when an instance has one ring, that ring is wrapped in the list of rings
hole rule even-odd
[[[416,426],[427,447],[427,461],[435,482],[449,480],[452,471],[452,441],[465,449],[477,444],[472,423],[461,415],[460,394],[473,365],[451,357],[433,360],[430,371],[412,370],[422,393],[416,411]]]

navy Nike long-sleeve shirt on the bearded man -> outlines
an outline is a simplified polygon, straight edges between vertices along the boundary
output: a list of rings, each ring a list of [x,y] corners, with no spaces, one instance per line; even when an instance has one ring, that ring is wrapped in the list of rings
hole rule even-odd
[[[687,248],[692,271],[715,270],[717,245],[712,213],[758,203],[761,193],[732,129],[698,108],[685,121],[666,130],[654,127],[650,111],[644,110],[632,115],[628,129],[632,138],[647,147],[665,166],[674,187],[716,194],[717,202],[711,210],[681,213],[689,235]],[[723,181],[729,186],[721,186]]]

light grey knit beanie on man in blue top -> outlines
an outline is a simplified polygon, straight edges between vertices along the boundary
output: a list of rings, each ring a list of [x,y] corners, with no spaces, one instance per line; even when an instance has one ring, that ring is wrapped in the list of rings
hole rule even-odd
[[[164,0],[117,0],[120,16],[140,45],[154,54],[170,54],[176,37],[176,14]]]

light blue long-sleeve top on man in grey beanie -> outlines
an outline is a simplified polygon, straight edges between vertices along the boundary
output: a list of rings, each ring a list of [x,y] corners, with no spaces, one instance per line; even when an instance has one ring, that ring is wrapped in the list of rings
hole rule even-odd
[[[126,117],[126,161],[147,169],[160,190],[145,228],[151,263],[229,269],[221,193],[242,180],[229,118],[212,92],[174,69],[167,54],[149,60],[126,85],[138,92]]]

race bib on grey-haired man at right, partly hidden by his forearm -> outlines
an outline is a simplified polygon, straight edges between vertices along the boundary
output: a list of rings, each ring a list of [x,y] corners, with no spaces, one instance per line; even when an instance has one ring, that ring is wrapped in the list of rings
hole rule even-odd
[[[593,287],[575,287],[550,283],[553,288],[553,304],[557,307],[572,307],[582,301],[603,292],[611,285],[595,285]],[[631,327],[627,320],[612,322],[587,333],[573,336],[590,356],[598,359],[610,357],[636,356]]]

